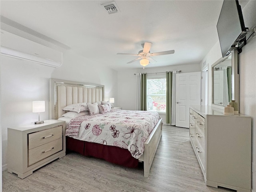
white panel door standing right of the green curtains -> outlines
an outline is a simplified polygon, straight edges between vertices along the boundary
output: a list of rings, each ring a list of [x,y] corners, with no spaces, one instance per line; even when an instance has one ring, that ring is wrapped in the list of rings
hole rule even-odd
[[[201,72],[176,74],[176,126],[189,128],[189,107],[200,104]]]

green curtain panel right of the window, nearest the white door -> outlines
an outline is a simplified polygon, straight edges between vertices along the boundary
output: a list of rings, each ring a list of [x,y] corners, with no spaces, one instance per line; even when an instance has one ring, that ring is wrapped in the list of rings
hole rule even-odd
[[[172,72],[166,72],[166,123],[172,123]]]

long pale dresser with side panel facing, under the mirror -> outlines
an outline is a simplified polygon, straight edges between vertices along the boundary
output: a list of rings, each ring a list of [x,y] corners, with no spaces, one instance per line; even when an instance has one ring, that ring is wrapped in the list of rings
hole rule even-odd
[[[251,191],[251,117],[190,107],[190,142],[206,185]]]

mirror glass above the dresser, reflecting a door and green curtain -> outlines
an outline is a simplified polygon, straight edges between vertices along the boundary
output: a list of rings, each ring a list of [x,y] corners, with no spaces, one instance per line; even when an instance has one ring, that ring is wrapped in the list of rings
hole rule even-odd
[[[226,106],[232,98],[232,54],[212,68],[213,104]]]

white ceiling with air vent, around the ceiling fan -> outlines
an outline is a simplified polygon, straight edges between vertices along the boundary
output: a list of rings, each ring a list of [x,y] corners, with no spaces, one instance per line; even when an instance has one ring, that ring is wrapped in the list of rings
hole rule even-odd
[[[5,22],[116,70],[142,68],[139,61],[126,64],[136,56],[116,53],[137,54],[145,41],[153,43],[152,53],[175,50],[154,56],[158,62],[147,67],[198,64],[218,41],[222,0],[116,0],[120,12],[114,14],[106,12],[106,2],[111,1],[0,3]]]

